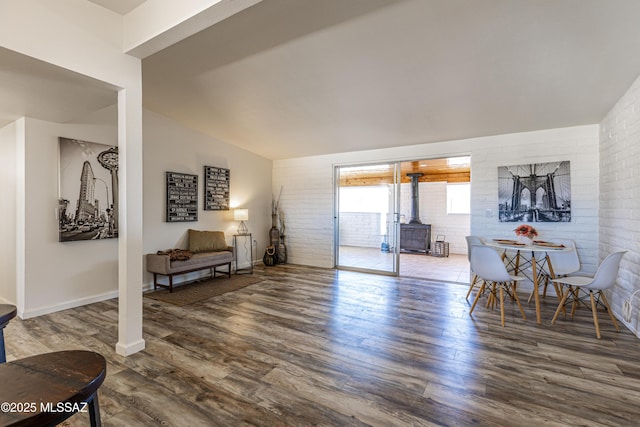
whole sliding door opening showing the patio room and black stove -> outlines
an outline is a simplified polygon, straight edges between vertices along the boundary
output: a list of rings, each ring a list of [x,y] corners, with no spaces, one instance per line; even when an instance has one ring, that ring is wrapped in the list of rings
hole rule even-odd
[[[335,182],[337,268],[468,283],[469,156],[338,166]]]

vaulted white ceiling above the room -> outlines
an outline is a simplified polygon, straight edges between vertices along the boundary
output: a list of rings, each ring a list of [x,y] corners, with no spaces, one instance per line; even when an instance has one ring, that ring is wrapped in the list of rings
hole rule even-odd
[[[640,75],[638,16],[637,0],[264,0],[145,58],[143,103],[272,159],[598,123]],[[25,64],[73,116],[69,74]],[[2,56],[0,75],[0,122],[43,104]],[[79,110],[113,100],[71,81]]]

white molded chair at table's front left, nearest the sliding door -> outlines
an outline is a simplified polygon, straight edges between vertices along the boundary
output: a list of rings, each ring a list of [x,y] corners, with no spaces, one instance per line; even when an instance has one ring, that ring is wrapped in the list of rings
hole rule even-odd
[[[516,290],[516,284],[520,280],[524,280],[523,276],[514,276],[509,274],[505,267],[502,257],[495,249],[484,245],[472,245],[471,246],[471,270],[474,271],[478,278],[483,280],[480,290],[473,301],[469,315],[473,313],[473,310],[480,299],[480,296],[484,294],[486,290],[489,290],[489,297],[497,299],[500,295],[500,321],[504,327],[504,294],[511,296],[513,300],[518,304],[522,318],[527,320],[527,316],[524,314],[522,304],[518,298]]]

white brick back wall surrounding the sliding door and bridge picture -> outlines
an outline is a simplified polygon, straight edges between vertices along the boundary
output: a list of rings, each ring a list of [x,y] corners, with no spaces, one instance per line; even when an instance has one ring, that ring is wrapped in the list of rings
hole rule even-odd
[[[573,219],[562,224],[537,223],[536,228],[543,239],[575,239],[584,269],[595,269],[598,258],[597,125],[274,161],[273,188],[284,188],[281,207],[288,218],[289,261],[334,266],[335,165],[461,155],[471,155],[470,232],[492,237],[513,237],[515,228],[514,223],[498,222],[498,167],[569,160]],[[486,209],[492,209],[491,218],[485,216]]]

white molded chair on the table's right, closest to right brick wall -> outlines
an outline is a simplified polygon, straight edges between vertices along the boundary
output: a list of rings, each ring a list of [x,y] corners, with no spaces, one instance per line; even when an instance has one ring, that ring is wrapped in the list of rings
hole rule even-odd
[[[607,297],[602,291],[604,291],[605,289],[609,289],[613,285],[615,285],[616,279],[618,278],[618,270],[620,269],[620,261],[622,260],[622,257],[626,252],[627,251],[614,252],[607,256],[604,261],[602,261],[602,263],[598,267],[598,270],[596,271],[596,274],[593,277],[566,276],[553,279],[554,283],[566,285],[567,289],[564,290],[562,299],[560,300],[558,308],[556,309],[556,313],[554,314],[553,319],[551,319],[551,323],[556,323],[558,314],[560,314],[560,311],[563,310],[565,304],[567,304],[568,302],[571,302],[571,318],[573,318],[578,304],[584,302],[583,299],[586,299],[586,295],[584,296],[584,298],[580,298],[579,293],[580,290],[582,290],[589,295],[589,299],[591,302],[591,312],[593,314],[593,324],[596,327],[596,337],[600,339],[600,325],[598,323],[598,303],[604,306],[604,308],[609,313],[609,317],[611,317],[613,326],[615,326],[616,330],[620,332],[618,322],[616,322],[616,318],[611,312],[611,307],[609,307]],[[568,301],[569,297],[571,297],[571,301]]]

